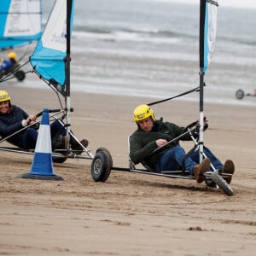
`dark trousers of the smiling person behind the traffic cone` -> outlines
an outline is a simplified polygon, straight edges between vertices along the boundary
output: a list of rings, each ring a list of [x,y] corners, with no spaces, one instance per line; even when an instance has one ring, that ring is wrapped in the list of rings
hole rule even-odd
[[[54,121],[50,124],[50,137],[53,142],[56,137],[60,135],[65,136],[67,131],[63,125],[59,121]],[[36,143],[38,139],[38,131],[32,127],[26,129],[22,136],[22,147],[26,149],[34,149],[36,148]]]

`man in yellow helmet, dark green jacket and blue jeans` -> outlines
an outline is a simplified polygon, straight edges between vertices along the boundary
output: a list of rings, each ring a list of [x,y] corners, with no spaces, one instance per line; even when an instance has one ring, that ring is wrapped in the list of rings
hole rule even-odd
[[[133,119],[137,123],[137,131],[130,137],[130,158],[134,164],[146,163],[155,172],[175,171],[183,165],[189,173],[195,176],[197,183],[202,183],[205,179],[203,173],[210,171],[212,165],[221,172],[233,174],[235,166],[232,160],[226,160],[224,165],[208,149],[204,148],[207,158],[199,164],[199,151],[195,150],[186,157],[184,149],[179,143],[172,141],[174,138],[184,133],[184,127],[173,123],[164,122],[163,119],[155,119],[153,110],[146,104],[139,105],[133,112]],[[181,140],[191,140],[189,135]],[[154,149],[166,147],[152,152]],[[227,183],[231,182],[231,176],[225,177]]]

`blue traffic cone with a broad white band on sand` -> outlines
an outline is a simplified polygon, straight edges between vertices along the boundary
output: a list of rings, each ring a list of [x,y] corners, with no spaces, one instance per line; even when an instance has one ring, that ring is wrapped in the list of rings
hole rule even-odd
[[[52,148],[49,127],[49,110],[44,109],[41,125],[39,126],[38,139],[35,148],[34,159],[29,173],[22,174],[21,177],[38,179],[63,179],[55,175],[52,164]]]

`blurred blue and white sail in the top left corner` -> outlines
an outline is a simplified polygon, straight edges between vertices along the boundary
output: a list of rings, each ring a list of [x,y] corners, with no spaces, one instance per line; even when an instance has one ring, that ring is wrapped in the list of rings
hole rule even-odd
[[[41,31],[41,0],[0,1],[0,49],[38,41]]]

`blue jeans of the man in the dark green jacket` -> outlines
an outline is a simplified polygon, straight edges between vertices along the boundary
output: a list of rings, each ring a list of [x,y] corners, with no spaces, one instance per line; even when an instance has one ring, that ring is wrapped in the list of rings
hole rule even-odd
[[[207,158],[211,160],[212,166],[220,170],[223,167],[223,164],[218,160],[218,158],[212,154],[212,151],[209,148],[204,147],[204,153],[207,155]],[[179,167],[183,166],[183,158],[186,153],[184,149],[180,146],[176,146],[168,150],[157,162],[156,172],[163,171],[175,171]],[[193,174],[193,168],[195,165],[199,164],[199,150],[195,150],[189,157],[185,160],[185,169],[189,171],[190,174]]]

